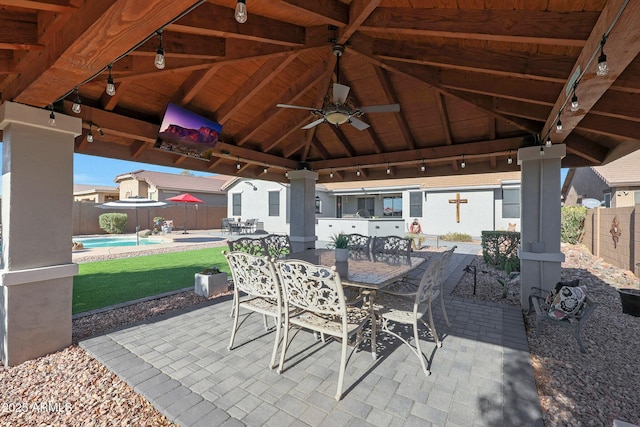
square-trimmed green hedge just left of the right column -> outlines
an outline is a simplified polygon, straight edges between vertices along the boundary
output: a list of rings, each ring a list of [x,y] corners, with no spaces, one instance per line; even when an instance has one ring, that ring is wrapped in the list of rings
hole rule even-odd
[[[483,231],[482,258],[500,270],[520,271],[520,233],[517,231]]]

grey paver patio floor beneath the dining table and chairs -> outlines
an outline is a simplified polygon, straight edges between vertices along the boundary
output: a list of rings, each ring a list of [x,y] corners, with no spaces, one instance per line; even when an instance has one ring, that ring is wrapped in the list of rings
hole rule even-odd
[[[181,426],[542,426],[520,308],[454,298],[451,290],[477,245],[459,244],[447,271],[451,326],[443,346],[423,335],[425,377],[416,356],[387,334],[378,359],[354,353],[345,396],[334,395],[339,343],[301,332],[279,375],[267,363],[273,332],[252,315],[227,350],[231,299],[159,316],[80,342],[108,369]],[[368,342],[363,344],[366,348]]]

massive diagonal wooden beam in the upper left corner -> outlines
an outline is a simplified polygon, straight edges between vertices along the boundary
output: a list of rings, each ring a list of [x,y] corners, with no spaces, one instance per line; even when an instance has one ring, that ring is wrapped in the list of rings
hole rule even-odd
[[[3,98],[38,107],[52,104],[191,6],[193,0],[170,5],[162,0],[85,2],[73,14],[74,25],[2,88]]]

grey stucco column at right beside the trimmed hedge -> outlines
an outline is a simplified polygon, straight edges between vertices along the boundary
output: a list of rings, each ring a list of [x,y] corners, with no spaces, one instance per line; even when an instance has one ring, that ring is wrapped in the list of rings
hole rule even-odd
[[[532,287],[551,289],[560,281],[564,254],[560,251],[560,166],[566,146],[518,150],[522,167],[520,193],[520,304],[529,307]]]

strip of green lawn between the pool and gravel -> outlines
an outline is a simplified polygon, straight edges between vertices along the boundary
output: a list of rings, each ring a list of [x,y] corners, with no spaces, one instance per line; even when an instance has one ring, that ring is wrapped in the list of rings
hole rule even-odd
[[[217,265],[230,273],[226,246],[134,256],[79,265],[73,278],[73,314],[193,287],[194,274]]]

